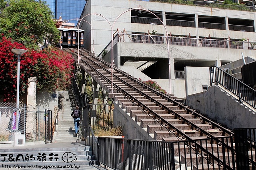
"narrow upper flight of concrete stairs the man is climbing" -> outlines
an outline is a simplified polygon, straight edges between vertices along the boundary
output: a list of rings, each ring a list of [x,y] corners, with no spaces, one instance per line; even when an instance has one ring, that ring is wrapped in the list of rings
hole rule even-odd
[[[76,106],[72,91],[60,91],[59,97],[61,109],[58,114],[57,135],[53,142],[80,142],[80,135],[78,134],[78,137],[74,135],[74,120],[70,116]]]

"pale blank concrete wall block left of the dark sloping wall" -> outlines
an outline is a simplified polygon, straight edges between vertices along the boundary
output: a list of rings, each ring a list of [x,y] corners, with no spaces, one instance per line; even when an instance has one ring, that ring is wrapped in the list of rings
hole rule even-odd
[[[186,97],[203,91],[202,85],[210,86],[210,72],[208,67],[184,67]]]

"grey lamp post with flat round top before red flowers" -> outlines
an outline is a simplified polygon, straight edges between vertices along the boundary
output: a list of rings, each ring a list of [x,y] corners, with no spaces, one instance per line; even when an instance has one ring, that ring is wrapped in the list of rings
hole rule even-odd
[[[19,48],[14,48],[11,49],[12,53],[16,54],[17,58],[18,58],[18,64],[17,64],[17,94],[16,94],[16,130],[19,129],[19,102],[20,102],[20,55],[24,54],[27,52],[26,49],[19,49]]]

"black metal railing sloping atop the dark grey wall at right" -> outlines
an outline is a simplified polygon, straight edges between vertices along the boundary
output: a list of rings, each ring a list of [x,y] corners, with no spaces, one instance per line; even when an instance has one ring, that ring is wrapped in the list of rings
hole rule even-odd
[[[216,66],[210,67],[210,83],[211,85],[212,83],[222,85],[236,95],[239,101],[243,100],[252,107],[256,107],[256,91],[242,81],[239,81],[232,75],[226,73],[226,71],[223,71]]]

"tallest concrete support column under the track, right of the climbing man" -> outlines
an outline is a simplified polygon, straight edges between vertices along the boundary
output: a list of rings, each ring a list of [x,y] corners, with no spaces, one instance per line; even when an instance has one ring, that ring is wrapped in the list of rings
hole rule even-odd
[[[96,110],[97,110],[97,104],[98,104],[98,94],[99,94],[99,88],[100,85],[96,81],[92,81],[93,85],[93,97],[92,97],[92,113],[91,113],[91,126],[95,125],[96,122]]]

